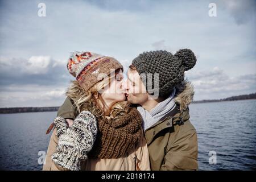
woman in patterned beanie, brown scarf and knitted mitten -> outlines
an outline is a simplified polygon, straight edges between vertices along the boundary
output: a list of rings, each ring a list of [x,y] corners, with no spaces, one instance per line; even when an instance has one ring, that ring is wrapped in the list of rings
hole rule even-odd
[[[122,65],[113,57],[74,52],[67,67],[77,80],[67,99],[78,116],[70,127],[67,113],[55,119],[43,170],[150,170],[141,115],[121,90]]]

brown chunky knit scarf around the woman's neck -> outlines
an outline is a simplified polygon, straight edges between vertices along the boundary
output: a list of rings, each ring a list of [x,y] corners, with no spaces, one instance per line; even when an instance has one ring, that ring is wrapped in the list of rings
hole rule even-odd
[[[98,134],[89,158],[117,159],[126,156],[141,138],[141,124],[141,114],[134,107],[115,121],[98,119]]]

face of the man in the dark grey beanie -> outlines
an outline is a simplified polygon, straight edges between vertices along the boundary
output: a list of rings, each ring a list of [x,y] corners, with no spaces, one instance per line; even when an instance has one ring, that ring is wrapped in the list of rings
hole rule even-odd
[[[127,80],[123,82],[127,101],[142,105],[148,100],[148,93],[139,73],[131,68],[127,72]]]

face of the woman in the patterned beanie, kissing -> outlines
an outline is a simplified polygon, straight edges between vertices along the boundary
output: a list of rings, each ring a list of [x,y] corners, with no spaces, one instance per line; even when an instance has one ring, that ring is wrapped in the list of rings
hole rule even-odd
[[[122,88],[123,72],[115,72],[115,76],[110,78],[110,84],[102,90],[101,97],[108,104],[115,104],[117,102],[125,101],[125,93]]]

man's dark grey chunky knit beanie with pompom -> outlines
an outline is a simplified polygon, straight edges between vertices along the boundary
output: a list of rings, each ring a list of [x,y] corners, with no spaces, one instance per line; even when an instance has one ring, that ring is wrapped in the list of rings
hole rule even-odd
[[[148,87],[154,89],[154,85],[158,86],[160,97],[171,94],[174,86],[184,80],[184,71],[193,68],[195,64],[196,56],[191,49],[180,49],[175,55],[168,51],[144,52],[133,60],[133,65],[147,91]],[[151,73],[152,77],[148,77],[148,73]],[[159,82],[156,84],[154,83],[155,73],[159,73]],[[154,94],[152,91],[148,93]]]

